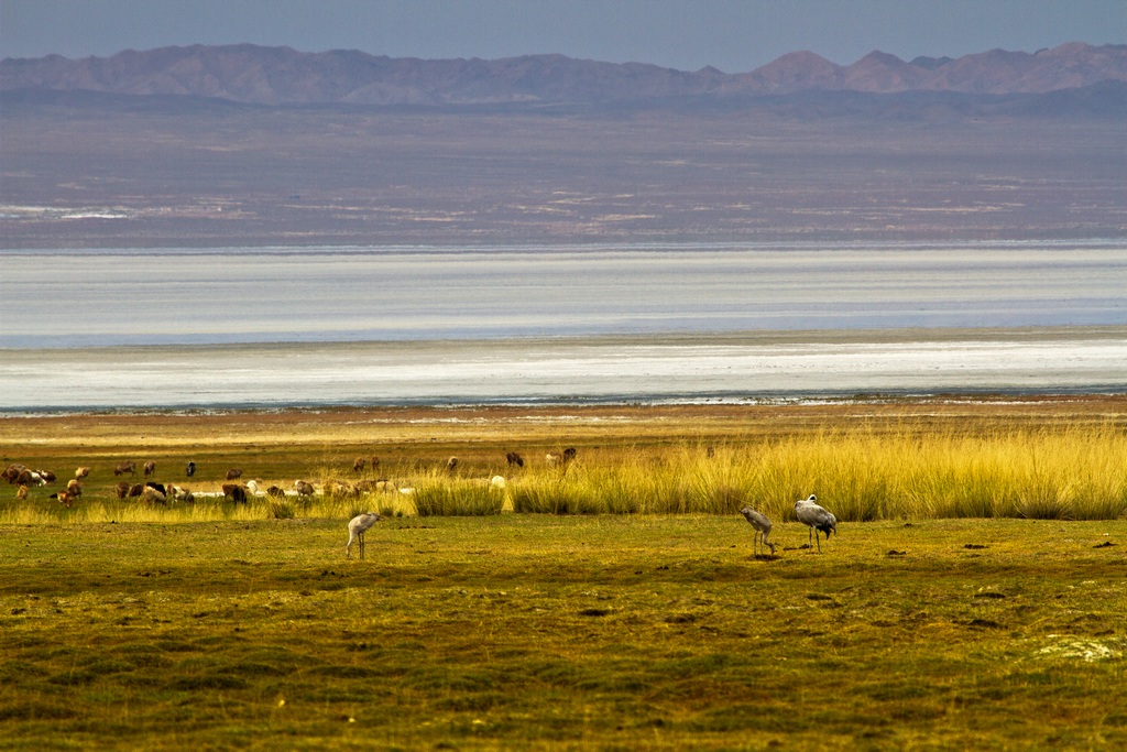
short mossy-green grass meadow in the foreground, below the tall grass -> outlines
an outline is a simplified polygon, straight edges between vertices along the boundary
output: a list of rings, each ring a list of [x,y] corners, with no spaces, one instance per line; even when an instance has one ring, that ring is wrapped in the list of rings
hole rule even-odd
[[[1125,749],[1125,522],[0,525],[3,749]]]

